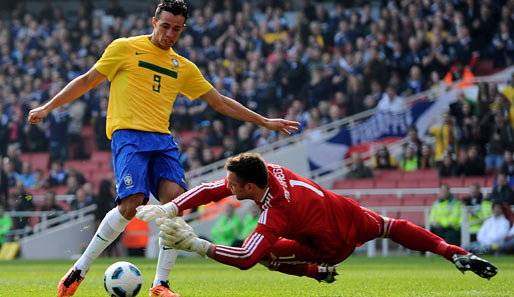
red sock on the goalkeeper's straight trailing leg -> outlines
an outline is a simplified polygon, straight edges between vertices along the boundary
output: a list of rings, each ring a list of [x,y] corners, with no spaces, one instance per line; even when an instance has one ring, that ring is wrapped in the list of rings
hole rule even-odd
[[[454,254],[466,255],[463,248],[448,244],[441,237],[406,220],[390,219],[385,237],[415,251],[428,251],[452,261]]]

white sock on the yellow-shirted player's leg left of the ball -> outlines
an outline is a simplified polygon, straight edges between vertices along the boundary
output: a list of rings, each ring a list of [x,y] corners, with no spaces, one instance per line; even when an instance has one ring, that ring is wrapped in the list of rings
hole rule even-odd
[[[98,258],[98,256],[118,238],[129,222],[130,220],[125,219],[117,207],[111,209],[111,211],[105,215],[95,236],[91,239],[91,242],[89,242],[86,251],[75,263],[75,267],[82,270],[80,273],[82,277],[86,275],[93,260]]]

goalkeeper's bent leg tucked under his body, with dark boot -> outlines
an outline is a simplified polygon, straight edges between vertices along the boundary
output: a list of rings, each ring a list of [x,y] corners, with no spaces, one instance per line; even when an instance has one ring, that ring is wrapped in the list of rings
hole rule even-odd
[[[260,261],[260,264],[272,271],[300,277],[307,276],[320,282],[335,281],[337,275],[335,266],[304,264],[319,262],[321,262],[319,255],[312,248],[294,240],[280,238],[273,244],[271,251]]]

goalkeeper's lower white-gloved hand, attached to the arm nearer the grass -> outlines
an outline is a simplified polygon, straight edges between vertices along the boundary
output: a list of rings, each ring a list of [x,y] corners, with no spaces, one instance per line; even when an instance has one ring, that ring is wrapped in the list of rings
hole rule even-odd
[[[196,236],[193,228],[189,226],[182,218],[176,220],[165,220],[160,225],[161,232],[159,236],[165,246],[187,252],[195,252],[200,255],[207,254],[210,242]]]

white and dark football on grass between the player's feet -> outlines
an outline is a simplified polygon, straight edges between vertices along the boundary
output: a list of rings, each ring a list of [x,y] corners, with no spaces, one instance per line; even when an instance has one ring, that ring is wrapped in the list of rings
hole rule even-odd
[[[105,270],[104,286],[111,297],[134,297],[142,284],[141,271],[132,263],[116,262]]]

